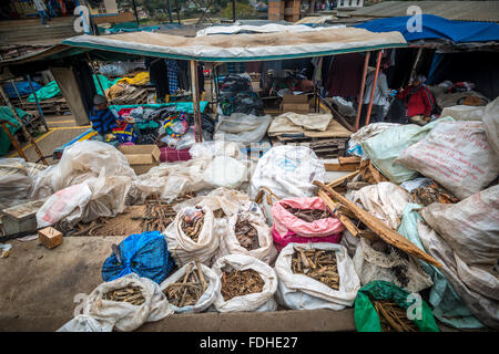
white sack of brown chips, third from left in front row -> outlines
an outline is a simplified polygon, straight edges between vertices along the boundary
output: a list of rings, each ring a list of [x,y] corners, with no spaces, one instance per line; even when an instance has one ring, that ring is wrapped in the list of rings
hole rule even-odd
[[[213,264],[221,280],[214,305],[220,312],[275,311],[277,275],[261,260],[244,254],[227,254]]]

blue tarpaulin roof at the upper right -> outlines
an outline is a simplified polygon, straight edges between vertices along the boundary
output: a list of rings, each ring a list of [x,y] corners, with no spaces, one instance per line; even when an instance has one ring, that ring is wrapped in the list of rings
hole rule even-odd
[[[421,14],[421,32],[409,32],[411,17],[396,17],[367,21],[355,27],[371,32],[400,32],[407,42],[444,39],[454,43],[499,41],[499,24],[491,22],[450,21],[435,14]]]

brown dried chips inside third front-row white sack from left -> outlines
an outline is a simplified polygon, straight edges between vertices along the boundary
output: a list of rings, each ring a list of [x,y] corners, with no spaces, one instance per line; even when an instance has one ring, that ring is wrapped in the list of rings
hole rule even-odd
[[[224,301],[235,296],[262,292],[265,284],[258,272],[253,269],[235,270],[231,266],[225,266],[222,271],[222,295]]]

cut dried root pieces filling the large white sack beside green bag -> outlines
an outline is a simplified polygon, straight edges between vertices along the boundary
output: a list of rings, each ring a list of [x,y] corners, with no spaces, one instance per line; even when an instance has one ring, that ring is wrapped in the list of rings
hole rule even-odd
[[[295,248],[292,269],[295,274],[310,277],[334,290],[339,289],[336,253],[333,250]]]

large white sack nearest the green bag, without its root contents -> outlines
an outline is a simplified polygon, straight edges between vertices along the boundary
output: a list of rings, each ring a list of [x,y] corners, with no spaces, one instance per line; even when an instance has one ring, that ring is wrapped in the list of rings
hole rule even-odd
[[[334,250],[336,253],[339,275],[339,290],[304,274],[295,274],[292,270],[292,259],[295,249],[302,248]],[[360,281],[355,273],[354,262],[348,257],[346,248],[334,243],[288,243],[275,262],[275,271],[279,279],[276,299],[293,310],[343,310],[352,306],[360,289]]]

